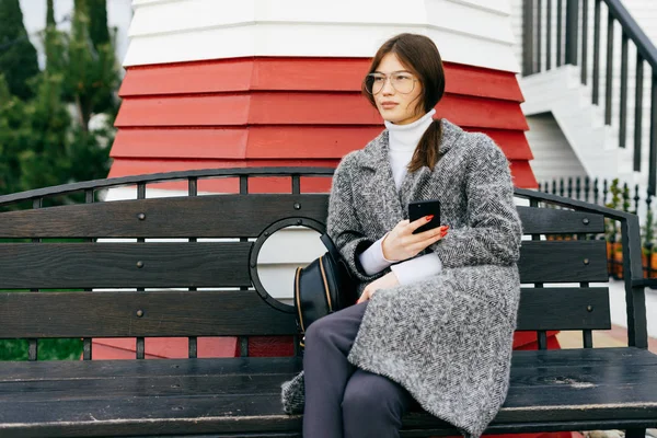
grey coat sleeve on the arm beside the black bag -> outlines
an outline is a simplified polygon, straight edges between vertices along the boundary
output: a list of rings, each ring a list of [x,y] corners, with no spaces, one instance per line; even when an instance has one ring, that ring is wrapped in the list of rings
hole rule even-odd
[[[351,160],[353,155],[346,155],[333,175],[326,232],[349,265],[351,273],[360,281],[372,281],[389,272],[389,269],[370,276],[365,273],[358,261],[358,255],[367,250],[373,243],[373,240],[365,235],[356,216],[351,196],[351,177],[349,175]]]

